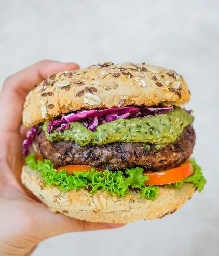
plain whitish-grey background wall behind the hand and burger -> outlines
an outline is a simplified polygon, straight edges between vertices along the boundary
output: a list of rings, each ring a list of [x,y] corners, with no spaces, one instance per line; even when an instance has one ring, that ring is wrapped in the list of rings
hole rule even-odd
[[[111,2],[1,0],[0,84],[45,58],[82,67],[111,60],[175,69],[191,89],[194,155],[208,183],[165,219],[54,237],[33,255],[218,255],[218,1]]]

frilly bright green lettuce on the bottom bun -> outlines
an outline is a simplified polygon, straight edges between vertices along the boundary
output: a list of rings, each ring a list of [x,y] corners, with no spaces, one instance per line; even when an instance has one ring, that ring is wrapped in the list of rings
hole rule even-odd
[[[111,172],[109,170],[100,172],[93,167],[89,172],[79,171],[69,174],[66,170],[57,172],[50,160],[36,160],[34,155],[27,156],[25,162],[30,168],[40,172],[47,185],[59,186],[61,191],[83,188],[87,189],[91,194],[101,190],[125,197],[130,189],[136,189],[140,191],[142,198],[148,200],[156,199],[159,193],[158,186],[145,185],[148,176],[143,175],[144,169],[140,167],[126,169],[125,173],[121,171]],[[183,181],[171,184],[171,186],[180,189],[184,183],[192,183],[198,188],[198,191],[203,190],[206,180],[201,173],[201,168],[194,159],[191,159],[191,164],[193,165],[194,174]]]

